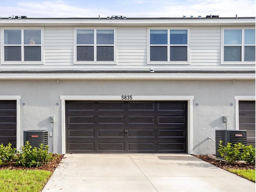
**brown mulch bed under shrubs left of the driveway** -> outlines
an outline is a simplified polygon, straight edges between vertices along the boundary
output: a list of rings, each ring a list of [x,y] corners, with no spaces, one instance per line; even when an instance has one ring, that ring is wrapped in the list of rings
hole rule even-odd
[[[15,166],[15,164],[10,164],[10,165],[6,165],[6,166],[0,166],[0,170],[3,169],[11,169],[11,170],[45,170],[45,171],[50,171],[53,172],[57,166],[59,165],[61,159],[63,158],[64,155],[56,155],[53,154],[53,156],[55,157],[54,160],[48,164],[45,164],[43,166],[40,167],[22,167],[22,166]],[[66,157],[64,157],[66,158]]]

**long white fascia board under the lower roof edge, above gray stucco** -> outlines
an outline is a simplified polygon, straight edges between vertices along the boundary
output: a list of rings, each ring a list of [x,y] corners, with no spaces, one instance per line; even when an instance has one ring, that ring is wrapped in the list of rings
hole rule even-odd
[[[53,73],[31,73],[31,74],[0,74],[0,79],[255,79],[254,73],[88,73],[88,74],[53,74]]]

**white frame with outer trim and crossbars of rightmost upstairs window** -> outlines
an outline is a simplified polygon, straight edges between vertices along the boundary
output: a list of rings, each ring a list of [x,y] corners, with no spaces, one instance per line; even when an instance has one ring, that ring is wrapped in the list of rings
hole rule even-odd
[[[242,44],[230,44],[225,46],[242,46],[241,61],[224,61],[224,29],[242,29]],[[255,29],[255,27],[221,27],[220,64],[221,65],[255,65],[255,61],[244,61],[244,46],[255,46],[255,44],[244,44],[244,29]]]

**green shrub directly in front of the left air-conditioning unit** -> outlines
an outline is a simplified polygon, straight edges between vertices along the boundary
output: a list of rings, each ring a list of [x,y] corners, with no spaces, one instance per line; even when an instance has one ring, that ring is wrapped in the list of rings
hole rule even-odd
[[[21,147],[22,152],[16,162],[16,165],[22,165],[24,167],[39,167],[52,161],[52,153],[48,153],[49,146],[43,147],[40,144],[39,148],[29,145],[29,141]]]

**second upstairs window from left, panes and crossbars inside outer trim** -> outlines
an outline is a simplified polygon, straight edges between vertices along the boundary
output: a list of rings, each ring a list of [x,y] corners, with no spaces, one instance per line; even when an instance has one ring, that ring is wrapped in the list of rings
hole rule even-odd
[[[114,29],[76,29],[76,61],[114,61]]]

